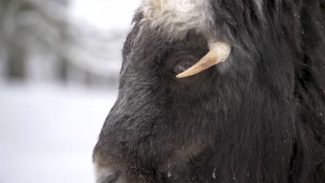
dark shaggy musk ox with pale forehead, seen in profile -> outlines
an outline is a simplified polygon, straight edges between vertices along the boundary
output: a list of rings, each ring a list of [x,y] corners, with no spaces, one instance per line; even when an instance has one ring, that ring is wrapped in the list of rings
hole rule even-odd
[[[97,182],[325,182],[322,0],[143,0]]]

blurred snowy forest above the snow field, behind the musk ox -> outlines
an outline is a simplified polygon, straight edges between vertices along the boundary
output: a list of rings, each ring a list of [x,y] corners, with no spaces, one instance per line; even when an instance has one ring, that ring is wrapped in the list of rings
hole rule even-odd
[[[103,1],[114,6],[112,1]],[[116,85],[127,26],[103,30],[78,21],[72,16],[76,3],[78,0],[0,0],[2,80]],[[130,23],[131,19],[125,22]]]

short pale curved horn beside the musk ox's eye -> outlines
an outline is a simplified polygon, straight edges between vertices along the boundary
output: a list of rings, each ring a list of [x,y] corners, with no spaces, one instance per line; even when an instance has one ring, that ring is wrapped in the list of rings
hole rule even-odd
[[[210,51],[190,69],[178,74],[177,78],[185,78],[205,71],[219,62],[224,62],[231,53],[231,45],[225,42],[215,42],[209,46]]]

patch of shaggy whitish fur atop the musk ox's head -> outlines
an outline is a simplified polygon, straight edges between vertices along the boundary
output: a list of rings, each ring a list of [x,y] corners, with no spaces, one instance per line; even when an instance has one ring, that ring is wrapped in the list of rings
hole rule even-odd
[[[151,26],[171,38],[181,38],[188,30],[196,30],[207,37],[214,27],[214,13],[210,0],[143,0],[144,19]]]

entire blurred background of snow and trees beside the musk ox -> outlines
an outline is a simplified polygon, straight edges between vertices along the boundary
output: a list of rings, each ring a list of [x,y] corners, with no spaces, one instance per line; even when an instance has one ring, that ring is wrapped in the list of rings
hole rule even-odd
[[[140,0],[0,0],[0,183],[94,182]]]

